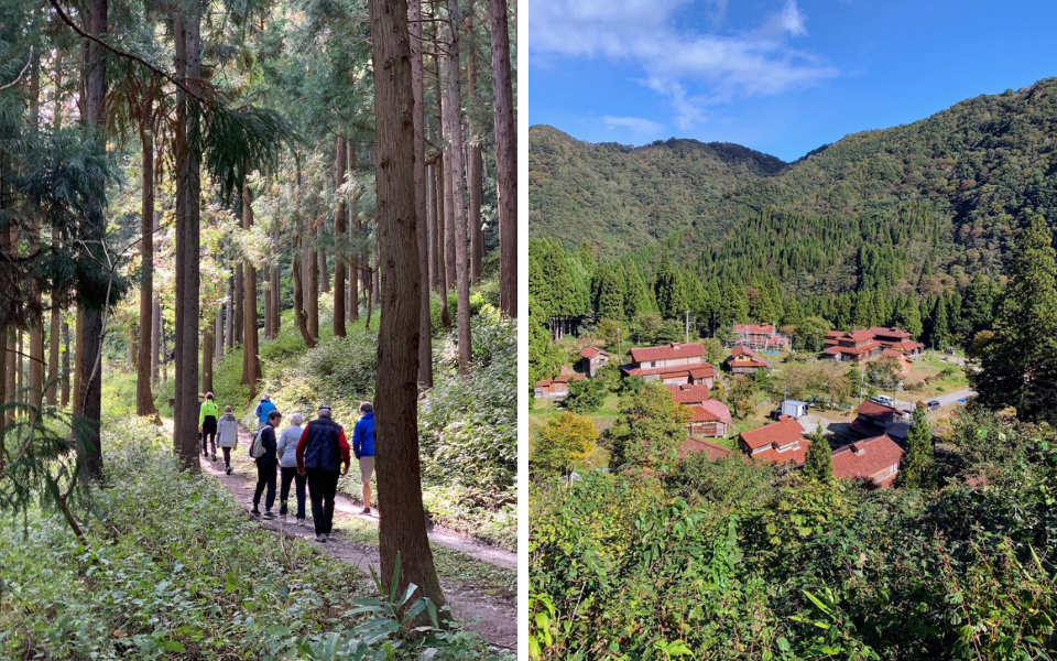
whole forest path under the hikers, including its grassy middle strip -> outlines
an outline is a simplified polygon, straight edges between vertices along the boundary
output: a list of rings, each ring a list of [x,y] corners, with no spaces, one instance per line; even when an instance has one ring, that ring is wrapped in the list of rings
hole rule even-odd
[[[213,462],[199,456],[203,473],[217,478],[242,506],[247,516],[253,507],[253,489],[257,486],[257,465],[247,454],[252,436],[239,430],[239,445],[231,453],[231,475],[224,472],[224,458],[217,455]],[[350,470],[355,470],[353,465]],[[279,514],[280,479],[275,480],[275,506]],[[347,562],[370,576],[370,567],[379,571],[378,512],[361,514],[362,505],[353,502],[340,492],[335,499],[334,534],[326,543],[315,543],[312,528],[312,502],[305,496],[308,525],[295,523],[297,498],[294,485],[290,487],[288,519],[283,523],[279,517],[260,520],[262,528],[274,530],[290,538],[313,541],[320,552]],[[264,495],[261,496],[264,510]],[[429,542],[437,564],[437,573],[444,596],[456,617],[468,629],[480,633],[491,644],[517,650],[517,555],[498,546],[473,542],[457,532],[434,527]],[[479,618],[479,619],[478,619]],[[477,620],[477,621],[475,621]]]

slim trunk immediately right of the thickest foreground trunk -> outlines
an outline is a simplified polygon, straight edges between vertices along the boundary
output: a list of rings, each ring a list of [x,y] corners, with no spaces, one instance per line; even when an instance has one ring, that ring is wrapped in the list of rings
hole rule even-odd
[[[422,73],[422,0],[411,0],[411,91],[415,133],[415,237],[418,241],[418,383],[433,386],[433,335],[429,316],[429,221],[426,219],[426,132]]]

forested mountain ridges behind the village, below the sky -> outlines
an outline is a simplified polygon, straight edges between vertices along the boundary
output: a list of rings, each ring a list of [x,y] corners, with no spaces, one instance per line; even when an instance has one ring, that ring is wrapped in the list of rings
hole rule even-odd
[[[911,239],[900,279],[916,286],[927,267],[963,286],[976,272],[1002,271],[1031,215],[1057,218],[1055,93],[1050,78],[980,96],[848,136],[787,166],[732,145],[590,145],[533,127],[531,236],[587,241],[601,258],[665,237],[677,263],[742,274],[777,268],[783,285],[807,278],[802,284],[816,293],[858,285],[859,245]],[[738,231],[747,223],[753,230]],[[636,261],[658,258],[646,246]]]

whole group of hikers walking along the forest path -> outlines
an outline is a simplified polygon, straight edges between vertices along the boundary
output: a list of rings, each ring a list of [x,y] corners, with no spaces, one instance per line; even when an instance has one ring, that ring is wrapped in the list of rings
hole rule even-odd
[[[231,448],[238,443],[239,421],[225,407],[224,415],[214,402],[211,392],[198,395],[198,434],[201,440],[201,454],[205,458],[217,460],[217,447],[224,453],[225,473],[231,475]],[[355,455],[360,468],[360,484],[363,497],[361,513],[371,513],[371,476],[374,474],[374,407],[371,402],[360,404],[360,419],[352,427],[352,444],[345,436],[345,429],[331,420],[330,404],[320,404],[316,419],[305,423],[301,413],[294,413],[290,426],[282,433],[277,429],[283,420],[271,398],[265,393],[257,407],[257,437],[263,449],[257,460],[257,488],[253,491],[253,517],[260,517],[261,496],[264,495],[264,519],[274,519],[272,507],[275,505],[275,474],[281,476],[279,516],[286,520],[287,499],[291,484],[297,497],[297,524],[304,527],[305,487],[312,501],[312,519],[315,525],[316,541],[326,542],[334,523],[334,499],[338,489],[338,478],[349,472],[350,453]],[[304,424],[304,427],[302,427]],[[252,448],[252,446],[251,446]],[[211,452],[210,452],[211,451]],[[251,454],[252,456],[252,454]]]

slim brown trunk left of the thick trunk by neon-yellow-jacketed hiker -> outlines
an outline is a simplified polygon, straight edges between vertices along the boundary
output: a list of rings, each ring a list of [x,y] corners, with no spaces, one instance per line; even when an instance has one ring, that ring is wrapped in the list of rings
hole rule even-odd
[[[135,413],[156,415],[151,382],[157,366],[157,335],[154,332],[154,137],[140,129],[143,147],[142,209],[140,215],[140,254],[142,269],[140,280],[140,355],[135,365]],[[151,340],[154,340],[152,343]],[[154,358],[152,359],[152,355]]]

